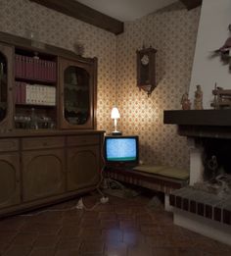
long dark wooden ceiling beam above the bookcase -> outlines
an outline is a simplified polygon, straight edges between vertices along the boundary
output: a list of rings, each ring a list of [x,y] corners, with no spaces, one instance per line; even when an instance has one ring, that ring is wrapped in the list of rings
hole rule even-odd
[[[115,34],[123,32],[123,23],[102,14],[75,0],[30,0],[47,8],[68,15],[84,23],[98,26]]]

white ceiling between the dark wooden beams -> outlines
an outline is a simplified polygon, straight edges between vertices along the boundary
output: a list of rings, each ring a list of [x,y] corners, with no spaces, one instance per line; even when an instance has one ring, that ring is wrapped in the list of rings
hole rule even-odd
[[[130,22],[153,13],[177,0],[77,0],[120,22]]]

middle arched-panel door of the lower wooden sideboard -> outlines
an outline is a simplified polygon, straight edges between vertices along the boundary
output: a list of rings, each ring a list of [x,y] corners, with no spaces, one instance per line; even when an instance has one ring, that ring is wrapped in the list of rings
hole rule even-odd
[[[65,192],[63,149],[23,152],[23,201]]]

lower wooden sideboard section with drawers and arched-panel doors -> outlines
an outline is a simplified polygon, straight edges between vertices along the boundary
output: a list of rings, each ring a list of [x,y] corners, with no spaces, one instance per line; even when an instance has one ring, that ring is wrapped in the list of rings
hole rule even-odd
[[[95,189],[103,131],[16,131],[0,134],[0,216]]]

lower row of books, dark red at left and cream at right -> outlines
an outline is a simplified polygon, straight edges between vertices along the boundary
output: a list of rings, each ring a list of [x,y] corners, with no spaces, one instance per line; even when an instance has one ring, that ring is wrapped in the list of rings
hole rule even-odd
[[[56,105],[56,87],[16,81],[16,104]]]

